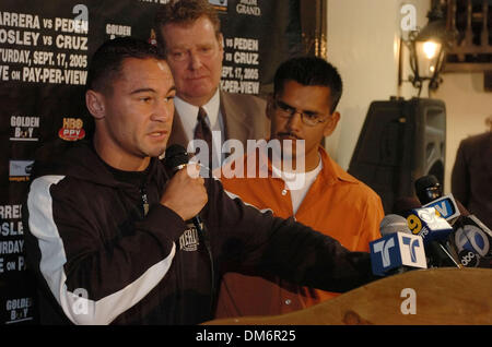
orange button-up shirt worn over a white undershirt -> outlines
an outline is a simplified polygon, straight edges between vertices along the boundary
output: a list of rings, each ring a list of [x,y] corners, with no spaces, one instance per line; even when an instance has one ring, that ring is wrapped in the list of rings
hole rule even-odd
[[[267,169],[268,177],[222,175],[221,181],[226,191],[259,210],[271,210],[278,217],[293,217],[314,230],[337,239],[351,251],[368,251],[368,242],[380,238],[379,223],[384,217],[384,210],[379,196],[345,172],[323,147],[319,147],[321,170],[295,214],[288,184],[278,175],[272,175],[271,163],[260,160],[258,151],[256,154],[257,171]],[[251,154],[243,157],[245,171],[248,156]],[[231,168],[234,169],[229,169]],[[337,295],[301,287],[278,277],[227,273],[221,283],[215,318],[283,314]]]

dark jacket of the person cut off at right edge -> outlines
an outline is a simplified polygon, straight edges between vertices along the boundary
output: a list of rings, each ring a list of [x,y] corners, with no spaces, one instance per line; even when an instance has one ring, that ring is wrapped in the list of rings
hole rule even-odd
[[[492,132],[460,142],[452,172],[452,193],[492,229]]]

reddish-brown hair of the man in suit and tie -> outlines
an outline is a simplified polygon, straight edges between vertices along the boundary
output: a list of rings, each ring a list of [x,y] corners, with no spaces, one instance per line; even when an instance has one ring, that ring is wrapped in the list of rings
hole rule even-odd
[[[154,19],[154,31],[159,48],[165,52],[166,43],[162,35],[162,27],[166,24],[188,25],[198,19],[206,16],[212,22],[215,37],[221,33],[221,21],[215,9],[208,0],[171,0],[162,5]]]

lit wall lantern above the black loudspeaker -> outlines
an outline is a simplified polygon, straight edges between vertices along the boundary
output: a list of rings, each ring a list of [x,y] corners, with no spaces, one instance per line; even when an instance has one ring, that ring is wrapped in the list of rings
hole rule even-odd
[[[446,31],[446,21],[441,5],[434,7],[427,13],[427,19],[429,23],[422,29],[410,32],[407,40],[401,38],[401,43],[408,47],[410,68],[413,73],[407,81],[401,79],[402,50],[400,47],[399,85],[402,82],[411,82],[419,89],[419,96],[424,81],[429,81],[429,89],[432,91],[437,89],[443,82],[440,74],[444,64],[445,51],[453,43]]]

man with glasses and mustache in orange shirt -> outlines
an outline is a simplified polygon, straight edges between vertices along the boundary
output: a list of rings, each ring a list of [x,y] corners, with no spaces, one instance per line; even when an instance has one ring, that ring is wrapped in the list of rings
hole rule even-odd
[[[226,191],[257,208],[295,218],[351,251],[368,251],[368,242],[380,237],[380,199],[337,165],[320,145],[340,119],[336,107],[341,93],[341,77],[327,61],[304,57],[282,63],[267,106],[271,121],[268,144],[277,141],[279,149],[268,155],[259,146],[249,151],[224,166],[221,180]],[[268,177],[261,172],[268,172]],[[283,314],[335,296],[277,277],[227,273],[221,283],[215,316]]]

